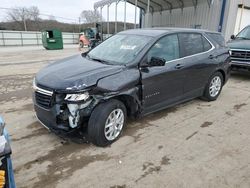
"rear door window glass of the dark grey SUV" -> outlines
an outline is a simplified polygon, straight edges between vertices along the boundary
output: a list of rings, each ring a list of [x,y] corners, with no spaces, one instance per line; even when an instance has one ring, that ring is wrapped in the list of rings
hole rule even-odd
[[[201,34],[181,33],[179,34],[182,57],[203,52],[203,39]]]

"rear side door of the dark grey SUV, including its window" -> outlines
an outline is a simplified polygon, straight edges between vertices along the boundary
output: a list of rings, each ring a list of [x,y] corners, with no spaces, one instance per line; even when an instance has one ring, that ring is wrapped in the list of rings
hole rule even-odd
[[[179,33],[180,52],[183,58],[184,95],[188,98],[202,94],[214,69],[213,45],[200,33]]]

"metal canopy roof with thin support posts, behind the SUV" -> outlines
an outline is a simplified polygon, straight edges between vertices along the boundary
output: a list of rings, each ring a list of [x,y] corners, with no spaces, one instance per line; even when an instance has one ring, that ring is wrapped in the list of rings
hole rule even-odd
[[[144,13],[155,13],[173,9],[183,9],[185,7],[197,8],[198,3],[208,3],[209,7],[214,0],[100,0],[94,4],[95,11],[100,8],[102,9],[107,6],[107,32],[109,34],[109,8],[110,5],[115,3],[115,32],[117,32],[117,5],[119,2],[125,2],[124,6],[124,30],[126,29],[126,3],[135,5],[135,22],[134,27],[136,28],[136,16],[137,7],[143,10]]]

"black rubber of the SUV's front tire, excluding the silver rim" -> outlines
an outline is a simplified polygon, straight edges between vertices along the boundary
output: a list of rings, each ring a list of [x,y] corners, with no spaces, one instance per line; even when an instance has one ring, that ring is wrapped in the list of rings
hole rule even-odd
[[[104,133],[105,123],[109,115],[116,109],[121,109],[124,114],[124,123],[122,126],[123,130],[127,120],[127,110],[125,105],[119,100],[111,99],[105,103],[100,103],[92,111],[88,123],[88,135],[90,141],[93,144],[105,147],[110,145],[120,137],[122,130],[119,135],[112,141],[108,140]]]

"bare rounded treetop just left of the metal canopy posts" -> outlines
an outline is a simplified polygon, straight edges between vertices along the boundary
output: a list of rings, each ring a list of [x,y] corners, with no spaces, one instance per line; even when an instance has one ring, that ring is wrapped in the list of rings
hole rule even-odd
[[[103,21],[102,15],[98,11],[84,10],[80,15],[84,23],[94,23]]]

